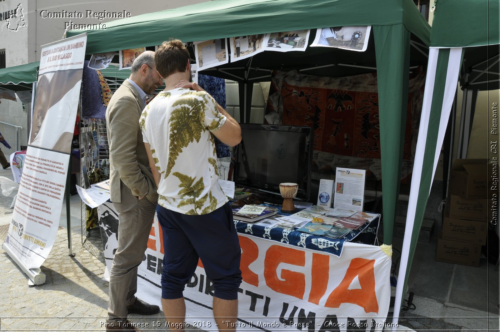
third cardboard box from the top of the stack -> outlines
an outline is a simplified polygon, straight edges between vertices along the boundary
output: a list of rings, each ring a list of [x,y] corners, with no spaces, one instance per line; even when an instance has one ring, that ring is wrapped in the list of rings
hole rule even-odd
[[[486,220],[474,221],[450,218],[445,215],[442,220],[442,238],[446,240],[484,245],[488,223]]]

